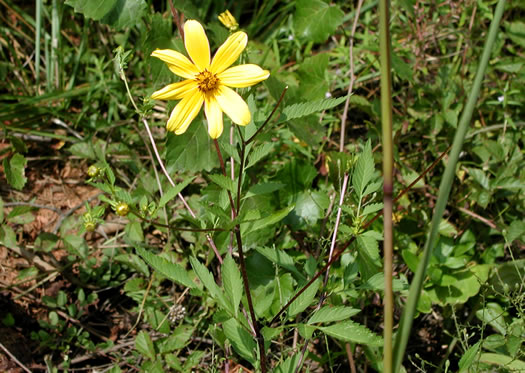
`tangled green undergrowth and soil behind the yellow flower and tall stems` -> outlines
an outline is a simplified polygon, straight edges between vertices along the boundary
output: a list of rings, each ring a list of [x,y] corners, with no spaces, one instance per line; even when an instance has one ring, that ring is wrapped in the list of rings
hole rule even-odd
[[[230,233],[239,224],[269,369],[382,371],[383,225],[367,224],[382,209],[377,2],[363,3],[355,33],[354,2],[170,3],[0,1],[0,370],[261,369]],[[428,170],[394,205],[395,329],[495,4],[391,4],[394,197]],[[215,50],[226,9],[249,35],[241,59],[271,71],[241,91],[254,119],[234,145],[225,122],[228,177],[202,114],[175,136],[164,128],[174,102],[148,99],[176,79],[151,52],[184,52],[183,19],[199,20]],[[523,2],[508,1],[406,371],[525,370],[523,19]],[[228,191],[242,201],[234,222]],[[326,265],[334,232],[347,248],[326,282],[279,313]]]

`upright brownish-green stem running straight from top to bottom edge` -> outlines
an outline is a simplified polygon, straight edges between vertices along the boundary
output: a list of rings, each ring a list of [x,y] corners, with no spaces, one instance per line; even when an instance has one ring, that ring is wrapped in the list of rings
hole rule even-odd
[[[379,1],[379,60],[381,65],[381,127],[383,137],[383,299],[384,345],[383,372],[392,373],[392,330],[394,324],[394,294],[392,291],[392,193],[394,190],[392,144],[392,75],[390,67],[389,0]]]

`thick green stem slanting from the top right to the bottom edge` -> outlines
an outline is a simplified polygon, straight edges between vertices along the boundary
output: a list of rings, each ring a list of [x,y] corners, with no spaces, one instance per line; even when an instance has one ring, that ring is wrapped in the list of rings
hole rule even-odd
[[[436,207],[434,210],[434,215],[432,216],[432,223],[430,227],[430,233],[425,242],[425,247],[423,249],[423,254],[419,261],[416,273],[410,285],[410,291],[408,294],[408,300],[406,307],[401,316],[401,322],[399,325],[399,331],[396,337],[395,351],[394,351],[394,371],[397,372],[401,366],[403,356],[405,354],[406,345],[408,342],[408,337],[410,336],[410,329],[412,327],[412,321],[414,319],[417,302],[419,300],[419,295],[423,286],[423,280],[425,279],[425,273],[430,260],[430,254],[437,242],[439,224],[445,212],[445,207],[447,206],[448,197],[450,190],[452,188],[452,182],[454,181],[454,174],[456,171],[456,164],[459,159],[459,153],[463,146],[463,141],[468,130],[470,120],[472,118],[472,113],[476,106],[476,102],[481,90],[481,83],[483,82],[483,76],[485,75],[485,70],[487,68],[490,53],[492,51],[494,42],[496,40],[496,34],[498,31],[499,23],[503,15],[503,10],[505,9],[505,0],[499,0],[494,12],[494,17],[490,24],[489,32],[485,45],[483,47],[482,56],[480,63],[478,65],[478,70],[476,71],[476,76],[474,78],[474,84],[472,85],[472,90],[467,99],[465,105],[465,110],[461,114],[459,120],[458,129],[454,136],[454,142],[452,144],[452,150],[448,159],[447,166],[445,167],[445,172],[443,173],[443,178],[441,179],[441,184],[439,186],[438,199],[436,201]]]

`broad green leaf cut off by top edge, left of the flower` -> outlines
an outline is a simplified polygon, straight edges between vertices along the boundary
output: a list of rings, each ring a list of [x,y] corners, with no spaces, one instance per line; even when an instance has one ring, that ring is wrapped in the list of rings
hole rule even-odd
[[[66,0],[86,18],[108,24],[117,30],[135,26],[147,11],[144,0]]]

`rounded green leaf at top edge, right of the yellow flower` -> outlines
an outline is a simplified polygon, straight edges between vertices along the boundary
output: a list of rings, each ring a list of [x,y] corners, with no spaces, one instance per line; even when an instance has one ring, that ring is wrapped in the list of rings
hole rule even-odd
[[[295,8],[297,34],[315,43],[328,39],[343,22],[341,9],[321,0],[298,0]]]

